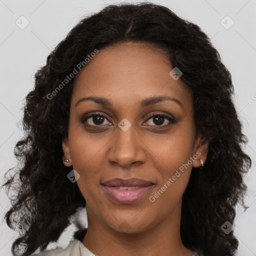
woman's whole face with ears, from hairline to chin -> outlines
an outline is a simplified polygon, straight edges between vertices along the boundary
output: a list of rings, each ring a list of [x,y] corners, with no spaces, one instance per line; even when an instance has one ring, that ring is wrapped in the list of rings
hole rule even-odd
[[[76,76],[62,148],[80,175],[88,221],[127,233],[179,224],[207,143],[195,133],[192,93],[172,69],[153,45],[125,42],[99,50]]]

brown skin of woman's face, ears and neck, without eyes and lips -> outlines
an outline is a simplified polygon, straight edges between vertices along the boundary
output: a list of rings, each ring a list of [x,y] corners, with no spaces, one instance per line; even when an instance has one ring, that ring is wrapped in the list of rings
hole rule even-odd
[[[196,134],[192,92],[169,75],[172,69],[154,45],[124,42],[100,49],[75,78],[68,138],[62,140],[63,160],[71,162],[63,164],[79,173],[76,182],[86,200],[88,230],[81,242],[100,256],[192,254],[180,238],[181,199],[192,166],[201,165],[199,158],[206,160],[208,143]],[[178,99],[182,106],[174,100],[140,106],[141,100],[159,95]],[[105,97],[112,106],[87,100],[75,107],[87,96]],[[94,111],[106,119],[100,124],[90,117],[86,126],[82,117]],[[176,122],[163,119],[158,124],[150,114],[166,114]],[[123,118],[131,124],[126,131],[118,126]],[[200,156],[151,202],[149,196],[198,151]],[[115,177],[154,185],[138,201],[120,204],[100,184]]]

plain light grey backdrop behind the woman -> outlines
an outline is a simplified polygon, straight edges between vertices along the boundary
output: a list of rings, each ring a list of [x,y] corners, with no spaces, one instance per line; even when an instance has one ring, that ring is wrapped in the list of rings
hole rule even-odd
[[[33,87],[33,75],[67,32],[82,18],[114,0],[0,0],[0,179],[15,166],[15,142],[22,136],[21,107]],[[136,1],[126,1],[136,2]],[[211,38],[229,69],[235,89],[234,102],[248,137],[244,148],[252,159],[245,177],[248,192],[243,212],[237,206],[234,232],[238,256],[256,255],[256,0],[159,0],[177,15],[198,24]],[[21,17],[22,16],[22,17]],[[228,16],[228,17],[227,17]],[[22,21],[20,21],[22,19]],[[25,26],[26,27],[22,27]],[[22,29],[21,29],[22,28]],[[2,183],[2,182],[1,182]],[[10,202],[0,190],[0,255],[10,256],[17,233],[8,228],[3,214]],[[80,212],[86,224],[86,212]],[[66,246],[74,227],[69,226],[54,246]]]

